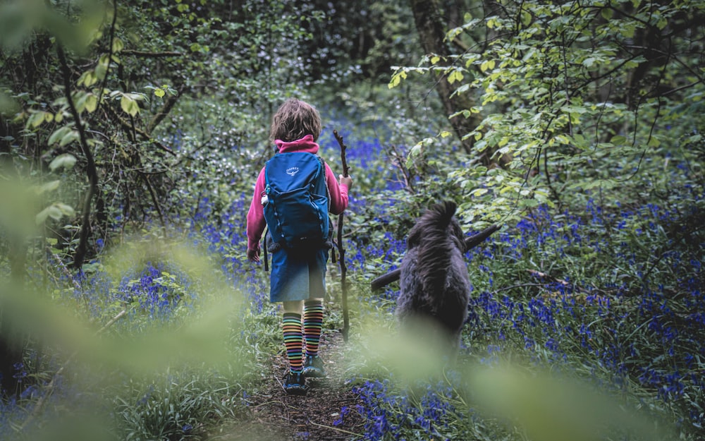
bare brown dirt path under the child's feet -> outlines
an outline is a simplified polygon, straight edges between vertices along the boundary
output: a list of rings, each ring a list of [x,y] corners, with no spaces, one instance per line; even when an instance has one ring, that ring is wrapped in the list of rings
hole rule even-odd
[[[271,357],[268,380],[247,397],[247,413],[231,427],[221,428],[212,440],[224,441],[336,441],[362,438],[363,421],[355,406],[360,399],[346,382],[345,342],[341,332],[321,335],[321,358],[326,378],[307,379],[304,396],[289,396],[283,389],[288,370],[286,355]],[[341,410],[350,411],[342,418]]]

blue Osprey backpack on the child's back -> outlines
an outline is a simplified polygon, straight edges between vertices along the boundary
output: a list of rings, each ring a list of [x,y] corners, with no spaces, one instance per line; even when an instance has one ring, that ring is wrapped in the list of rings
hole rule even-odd
[[[287,248],[322,245],[329,234],[323,159],[307,152],[277,153],[264,166],[264,219],[274,242]]]

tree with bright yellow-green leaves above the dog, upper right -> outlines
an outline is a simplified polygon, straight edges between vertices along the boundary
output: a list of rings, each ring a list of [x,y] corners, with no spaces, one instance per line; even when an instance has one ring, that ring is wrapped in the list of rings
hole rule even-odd
[[[466,52],[448,66],[427,56],[391,81],[446,78],[454,97],[477,103],[454,114],[472,121],[462,138],[474,155],[510,158],[505,170],[451,173],[467,212],[496,221],[615,186],[638,193],[644,157],[667,155],[697,130],[703,1],[488,1],[477,11],[445,34]]]

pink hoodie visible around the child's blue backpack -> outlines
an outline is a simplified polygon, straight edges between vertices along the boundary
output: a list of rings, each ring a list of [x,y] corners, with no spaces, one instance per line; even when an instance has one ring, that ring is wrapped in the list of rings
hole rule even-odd
[[[309,152],[317,153],[319,146],[314,143],[312,135],[306,135],[300,140],[295,140],[290,143],[285,143],[282,140],[275,140],[274,144],[278,147],[279,152]],[[333,174],[333,170],[328,164],[326,166],[326,183],[328,184],[328,193],[331,196],[331,213],[340,215],[345,208],[348,207],[348,186],[338,185],[338,179]],[[252,195],[252,203],[250,203],[250,211],[247,212],[247,249],[259,249],[259,239],[262,238],[262,231],[266,226],[264,222],[264,211],[262,210],[262,192],[264,191],[264,167],[259,171],[257,183],[255,183],[255,193]]]

